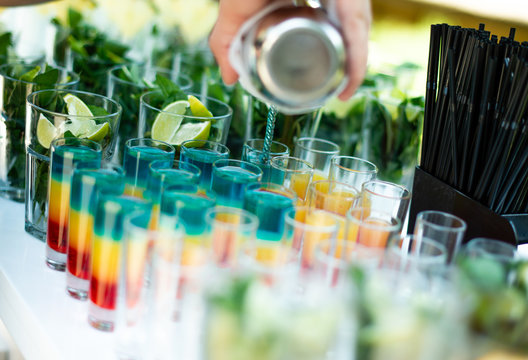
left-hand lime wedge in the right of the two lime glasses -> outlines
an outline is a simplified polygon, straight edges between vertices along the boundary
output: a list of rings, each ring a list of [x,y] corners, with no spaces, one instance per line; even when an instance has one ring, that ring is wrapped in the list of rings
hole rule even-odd
[[[185,100],[178,100],[167,105],[154,119],[152,139],[170,142],[178,131],[183,120],[182,115],[188,107],[189,102]]]

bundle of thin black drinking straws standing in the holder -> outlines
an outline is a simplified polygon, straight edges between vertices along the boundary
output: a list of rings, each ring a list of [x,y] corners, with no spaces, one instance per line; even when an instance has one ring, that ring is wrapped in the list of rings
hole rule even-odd
[[[497,214],[528,212],[528,42],[431,26],[420,167]]]

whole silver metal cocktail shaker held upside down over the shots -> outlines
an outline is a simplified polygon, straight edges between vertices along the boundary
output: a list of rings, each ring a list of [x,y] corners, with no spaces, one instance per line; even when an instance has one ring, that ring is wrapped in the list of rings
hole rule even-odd
[[[345,59],[342,34],[326,10],[291,0],[246,22],[230,48],[242,86],[287,114],[312,111],[339,93]]]

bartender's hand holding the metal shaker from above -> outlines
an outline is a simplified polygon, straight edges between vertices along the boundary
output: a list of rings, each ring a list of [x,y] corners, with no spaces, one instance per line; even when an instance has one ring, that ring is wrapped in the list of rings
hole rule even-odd
[[[229,63],[229,47],[239,28],[273,0],[220,0],[218,19],[209,46],[220,66],[222,79],[233,84],[238,74]],[[361,85],[367,69],[368,35],[372,14],[370,0],[335,0],[347,48],[348,83],[339,95],[350,98]]]

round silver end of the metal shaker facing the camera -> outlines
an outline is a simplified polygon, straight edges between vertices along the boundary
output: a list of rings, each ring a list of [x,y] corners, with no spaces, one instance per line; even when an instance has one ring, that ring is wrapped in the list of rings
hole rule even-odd
[[[256,72],[268,95],[284,106],[320,106],[342,84],[345,46],[331,24],[293,17],[267,28],[259,38]]]

